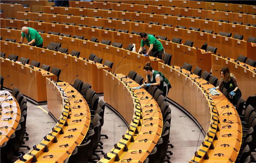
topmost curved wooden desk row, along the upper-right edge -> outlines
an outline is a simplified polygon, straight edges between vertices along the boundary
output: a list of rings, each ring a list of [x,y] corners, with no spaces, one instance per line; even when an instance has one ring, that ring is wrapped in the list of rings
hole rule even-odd
[[[97,0],[98,2],[104,2],[105,0]],[[108,0],[108,2],[116,3],[116,0]],[[203,8],[206,10],[229,10],[229,11],[243,11],[243,12],[255,12],[256,6],[245,4],[225,4],[225,3],[211,3],[204,1],[179,1],[179,0],[131,0],[129,3],[134,4],[149,4],[149,5],[162,5],[162,6],[176,6],[176,7],[190,7],[190,8]]]

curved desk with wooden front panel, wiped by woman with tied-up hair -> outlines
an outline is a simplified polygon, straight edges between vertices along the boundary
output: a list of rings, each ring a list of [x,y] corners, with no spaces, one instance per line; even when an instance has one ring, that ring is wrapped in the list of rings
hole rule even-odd
[[[163,117],[155,99],[145,89],[131,90],[130,87],[137,87],[139,84],[122,77],[125,75],[113,75],[104,70],[104,101],[126,122],[131,123],[123,138],[117,143],[117,148],[114,147],[107,153],[109,159],[102,158],[99,163],[143,162],[162,134]],[[149,112],[151,109],[153,111]],[[149,125],[150,123],[153,125]],[[149,134],[149,131],[152,133]],[[139,150],[142,152],[139,153]],[[134,154],[134,151],[137,153]],[[131,160],[127,161],[130,158]]]

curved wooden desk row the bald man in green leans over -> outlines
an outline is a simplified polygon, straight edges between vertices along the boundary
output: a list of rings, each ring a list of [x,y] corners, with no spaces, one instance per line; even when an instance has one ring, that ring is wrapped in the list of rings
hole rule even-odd
[[[1,52],[5,52],[6,56],[8,56],[8,54],[16,54],[16,55],[19,55],[19,57],[25,57],[25,58],[29,58],[30,60],[34,60],[39,55],[36,58],[36,61],[41,62],[42,64],[44,63],[51,67],[61,68],[62,70],[63,70],[63,67],[65,67],[65,65],[68,64],[68,66],[65,67],[65,69],[63,70],[64,72],[61,73],[60,75],[60,81],[71,82],[71,80],[76,75],[79,75],[78,78],[85,82],[90,83],[92,85],[92,88],[95,89],[97,93],[103,92],[103,86],[101,84],[101,81],[98,78],[99,76],[102,76],[102,73],[103,73],[102,69],[110,69],[110,67],[107,67],[107,66],[103,67],[102,64],[100,63],[92,63],[93,62],[92,60],[88,60],[88,61],[83,60],[82,57],[77,58],[72,55],[67,55],[67,54],[63,54],[60,52],[55,52],[52,50],[47,50],[39,47],[31,47],[24,44],[18,44],[18,43],[6,42],[6,41],[0,41],[0,43],[1,43],[0,44]],[[77,46],[84,46],[85,45],[84,43],[87,44],[87,42],[85,41],[83,42],[81,40],[80,44],[77,44]],[[77,71],[79,69],[82,71]],[[42,71],[42,74],[45,74],[45,73],[47,72]],[[55,79],[57,79],[57,76],[56,78],[54,77],[54,80]],[[4,83],[4,85],[6,86],[8,85],[8,83],[9,82],[6,82]],[[42,80],[42,83],[45,85],[44,80]],[[73,83],[74,82],[72,82],[71,84]],[[45,94],[45,91],[43,92]]]

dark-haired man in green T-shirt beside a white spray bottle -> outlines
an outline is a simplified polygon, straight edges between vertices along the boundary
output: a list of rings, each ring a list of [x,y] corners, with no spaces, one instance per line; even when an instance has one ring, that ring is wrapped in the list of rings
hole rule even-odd
[[[158,41],[153,35],[148,35],[147,33],[141,33],[140,37],[141,39],[141,45],[139,49],[139,53],[142,52],[143,47],[145,44],[149,47],[146,55],[149,55],[149,53],[156,52],[156,55],[159,59],[162,59],[162,53],[163,53],[163,45],[160,41]]]

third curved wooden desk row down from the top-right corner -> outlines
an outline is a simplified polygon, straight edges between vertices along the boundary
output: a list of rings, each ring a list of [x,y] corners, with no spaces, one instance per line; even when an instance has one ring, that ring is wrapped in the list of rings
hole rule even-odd
[[[159,22],[159,24],[172,24],[173,26],[182,25],[187,26],[190,25],[195,28],[202,28],[213,30],[216,33],[220,31],[226,31],[232,33],[239,33],[244,35],[244,39],[247,40],[249,36],[256,37],[256,27],[245,26],[245,25],[234,25],[231,23],[225,22],[217,22],[217,21],[207,21],[201,19],[193,19],[192,18],[181,18],[174,16],[164,16],[164,15],[156,15],[156,14],[144,14],[144,13],[135,13],[135,12],[124,12],[124,11],[106,11],[106,10],[96,10],[96,9],[79,9],[79,8],[65,8],[65,7],[47,7],[44,6],[45,13],[58,13],[63,15],[64,13],[79,15],[92,15],[92,16],[107,16],[111,18],[124,18],[124,19],[132,19],[132,20],[140,20],[144,21],[144,23],[149,22]],[[91,17],[92,17],[91,16]],[[172,23],[170,23],[172,22]]]

